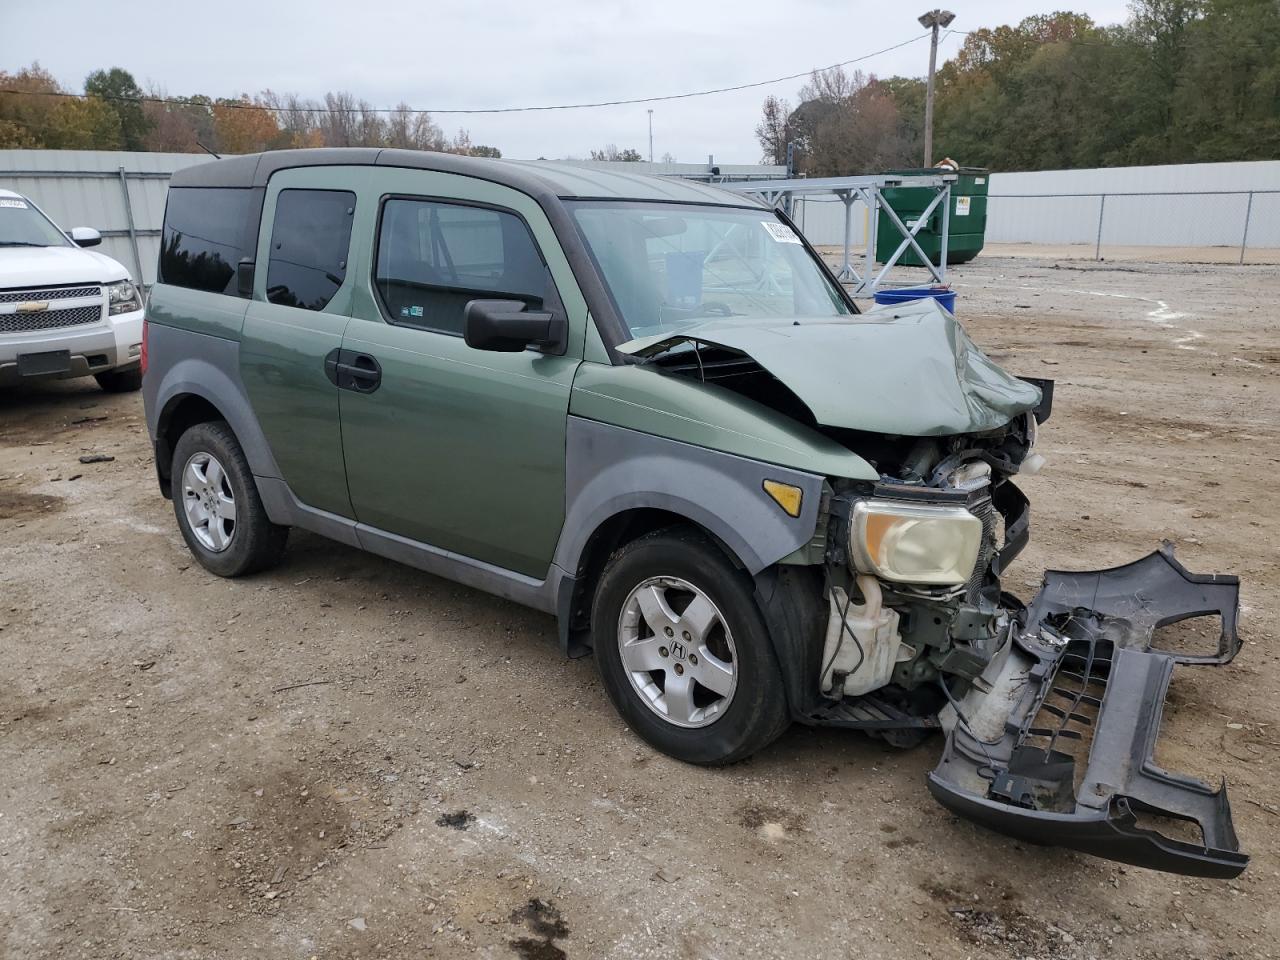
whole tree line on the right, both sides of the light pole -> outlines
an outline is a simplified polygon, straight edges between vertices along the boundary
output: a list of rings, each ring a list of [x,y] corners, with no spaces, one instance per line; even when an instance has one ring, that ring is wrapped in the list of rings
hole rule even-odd
[[[815,72],[768,97],[765,163],[837,177],[919,166],[924,81]],[[934,156],[995,170],[1280,156],[1280,4],[1135,0],[1102,27],[1076,13],[970,32],[936,77]]]

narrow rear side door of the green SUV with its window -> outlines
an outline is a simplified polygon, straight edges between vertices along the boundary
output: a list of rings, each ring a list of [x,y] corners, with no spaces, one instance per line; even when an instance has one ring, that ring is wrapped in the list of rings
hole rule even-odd
[[[326,365],[351,314],[362,168],[283,170],[266,188],[241,376],[280,474],[302,503],[352,517],[338,387]]]

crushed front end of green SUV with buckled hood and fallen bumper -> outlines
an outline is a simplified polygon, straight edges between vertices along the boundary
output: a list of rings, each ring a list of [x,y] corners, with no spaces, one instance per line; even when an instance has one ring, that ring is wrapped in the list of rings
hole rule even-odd
[[[705,321],[622,347],[783,413],[879,475],[833,481],[824,529],[796,561],[822,571],[820,625],[809,631],[804,603],[780,599],[796,573],[758,594],[777,635],[819,634],[820,655],[808,641],[791,650],[794,713],[897,746],[942,731],[931,792],[992,829],[1238,876],[1248,856],[1225,787],[1155,762],[1172,668],[1239,649],[1236,579],[1190,573],[1166,544],[1114,570],[1051,571],[1029,603],[1005,591],[1030,525],[1014,477],[1043,465],[1036,434],[1053,383],[1006,374],[932,303],[873,317],[844,321],[838,337],[835,324]],[[1196,617],[1220,618],[1215,650],[1152,648],[1158,626]]]

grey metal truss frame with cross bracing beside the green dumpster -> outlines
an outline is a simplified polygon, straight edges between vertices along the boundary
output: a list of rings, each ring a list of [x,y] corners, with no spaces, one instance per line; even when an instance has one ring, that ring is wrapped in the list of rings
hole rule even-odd
[[[852,284],[854,296],[872,296],[879,284],[888,275],[888,271],[901,259],[908,250],[914,250],[915,255],[925,264],[933,279],[938,283],[947,282],[947,238],[951,234],[951,184],[956,180],[954,173],[940,173],[936,175],[896,177],[891,174],[878,174],[874,177],[829,177],[799,180],[754,180],[748,183],[724,183],[724,189],[750,193],[760,197],[767,204],[781,209],[790,215],[791,204],[796,197],[814,193],[833,195],[845,205],[845,244],[837,276],[842,283]],[[924,212],[908,225],[902,218],[884,200],[883,189],[887,187],[924,187],[936,192]],[[867,224],[867,248],[861,256],[861,271],[854,266],[851,256],[852,229],[854,229],[854,204],[861,201],[869,211]],[[933,211],[942,205],[942,250],[938,262],[925,255],[916,241],[920,228],[928,223]],[[902,242],[897,250],[884,259],[883,266],[876,271],[876,234],[879,229],[881,214],[888,218],[893,228],[901,236]]]

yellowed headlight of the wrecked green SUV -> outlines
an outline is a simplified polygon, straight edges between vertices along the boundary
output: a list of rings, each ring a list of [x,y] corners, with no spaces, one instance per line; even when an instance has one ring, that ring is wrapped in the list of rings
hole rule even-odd
[[[869,499],[854,504],[849,549],[863,573],[902,584],[965,584],[982,521],[964,507]]]

